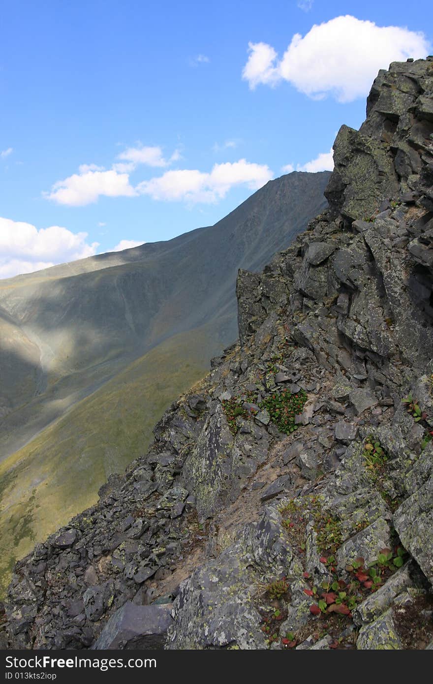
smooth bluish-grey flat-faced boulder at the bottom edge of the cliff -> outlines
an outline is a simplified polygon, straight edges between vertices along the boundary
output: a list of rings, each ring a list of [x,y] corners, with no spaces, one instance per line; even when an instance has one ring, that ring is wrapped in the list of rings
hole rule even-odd
[[[172,617],[167,605],[135,605],[131,601],[109,618],[92,646],[95,650],[163,648]]]

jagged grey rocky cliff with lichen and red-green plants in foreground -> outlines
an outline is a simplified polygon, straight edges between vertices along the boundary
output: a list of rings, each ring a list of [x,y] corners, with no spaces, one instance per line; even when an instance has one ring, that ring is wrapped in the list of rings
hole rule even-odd
[[[379,73],[334,161],[239,272],[239,343],[16,564],[16,648],[433,647],[433,57]]]

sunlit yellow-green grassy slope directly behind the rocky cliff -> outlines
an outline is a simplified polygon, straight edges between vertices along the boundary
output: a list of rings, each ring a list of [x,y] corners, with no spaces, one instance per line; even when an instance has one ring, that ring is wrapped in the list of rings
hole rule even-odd
[[[16,558],[92,504],[110,473],[146,451],[163,411],[207,373],[203,350],[211,347],[205,328],[170,338],[0,464],[1,590]]]

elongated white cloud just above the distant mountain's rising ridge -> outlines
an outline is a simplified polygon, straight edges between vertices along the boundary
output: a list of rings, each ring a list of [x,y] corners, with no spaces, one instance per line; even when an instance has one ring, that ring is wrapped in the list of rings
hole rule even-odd
[[[232,187],[246,185],[257,190],[272,177],[272,171],[265,164],[239,159],[234,163],[215,164],[209,173],[193,169],[166,171],[137,185],[137,192],[154,200],[215,202],[225,197]]]

